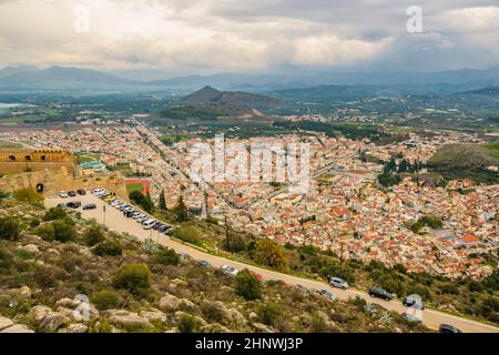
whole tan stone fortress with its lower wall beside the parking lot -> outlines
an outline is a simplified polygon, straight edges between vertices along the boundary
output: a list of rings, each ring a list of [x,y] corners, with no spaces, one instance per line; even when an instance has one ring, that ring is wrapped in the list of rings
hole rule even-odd
[[[28,166],[28,169],[27,169]],[[24,187],[43,187],[45,196],[60,191],[86,191],[103,187],[128,199],[119,173],[81,176],[73,154],[57,150],[0,151],[0,190],[13,192]]]

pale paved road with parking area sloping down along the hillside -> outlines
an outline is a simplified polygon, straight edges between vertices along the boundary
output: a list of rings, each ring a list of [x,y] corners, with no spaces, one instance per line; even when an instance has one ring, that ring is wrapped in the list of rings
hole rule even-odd
[[[45,205],[48,207],[53,207],[58,205],[61,202],[68,203],[70,201],[80,201],[82,205],[94,203],[98,205],[96,210],[93,211],[82,211],[80,209],[79,211],[82,213],[82,217],[84,219],[95,219],[99,223],[105,224],[106,227],[111,231],[119,232],[119,233],[130,233],[134,236],[136,236],[139,240],[144,241],[145,239],[153,239],[154,241],[161,243],[162,245],[169,246],[173,250],[175,250],[177,253],[185,253],[192,256],[194,260],[201,261],[207,261],[211,263],[214,267],[221,267],[222,265],[231,265],[233,267],[236,267],[237,270],[243,268],[249,268],[252,271],[257,272],[263,276],[264,280],[282,280],[285,283],[289,285],[303,285],[307,288],[315,288],[315,290],[330,290],[330,286],[325,282],[314,281],[314,280],[307,280],[307,278],[299,278],[296,276],[291,276],[287,274],[282,274],[274,271],[268,271],[264,268],[259,268],[252,265],[246,265],[240,262],[230,261],[223,257],[214,256],[211,254],[203,253],[202,251],[194,248],[192,246],[182,244],[180,242],[173,241],[169,239],[166,235],[157,232],[157,231],[144,231],[142,226],[136,223],[133,219],[126,219],[123,213],[108,204],[105,204],[100,199],[95,197],[92,194],[88,194],[85,196],[77,196],[77,197],[69,197],[69,199],[60,199],[60,197],[50,197],[45,200]],[[103,212],[103,206],[105,205],[105,217]],[[356,290],[338,290],[334,288],[333,291],[338,298],[340,300],[348,300],[349,297],[359,296],[364,300],[366,300],[369,303],[377,303],[381,306],[384,306],[387,310],[396,311],[398,313],[404,313],[407,311],[407,307],[405,307],[400,302],[391,301],[386,302],[381,301],[379,298],[371,298],[369,295],[356,291]],[[498,327],[493,327],[488,324],[482,324],[476,321],[470,321],[467,318],[461,318],[455,315],[450,315],[447,313],[434,311],[434,310],[425,310],[422,311],[422,323],[434,329],[438,329],[440,324],[450,324],[456,326],[457,328],[461,329],[465,333],[499,333]]]

